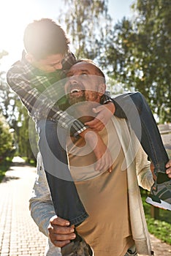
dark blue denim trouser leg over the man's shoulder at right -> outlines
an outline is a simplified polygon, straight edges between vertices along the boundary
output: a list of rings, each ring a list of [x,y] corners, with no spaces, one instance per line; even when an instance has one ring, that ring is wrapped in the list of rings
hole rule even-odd
[[[116,104],[115,116],[128,118],[142,148],[153,162],[154,173],[165,173],[165,165],[169,157],[145,97],[140,92],[121,94],[115,97],[114,103]],[[137,127],[137,117],[132,114],[132,108],[136,108],[140,115],[141,136],[140,127]]]

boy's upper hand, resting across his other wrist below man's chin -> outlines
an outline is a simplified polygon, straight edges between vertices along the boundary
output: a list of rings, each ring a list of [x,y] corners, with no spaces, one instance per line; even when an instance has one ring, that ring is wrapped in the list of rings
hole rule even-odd
[[[113,102],[109,102],[105,105],[99,105],[96,108],[93,108],[94,113],[97,113],[96,118],[93,121],[88,121],[85,125],[88,125],[91,129],[96,131],[102,131],[107,122],[115,113],[115,105]]]

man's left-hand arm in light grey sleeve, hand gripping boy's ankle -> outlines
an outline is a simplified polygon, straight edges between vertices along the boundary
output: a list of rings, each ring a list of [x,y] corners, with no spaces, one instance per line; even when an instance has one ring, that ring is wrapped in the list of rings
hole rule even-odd
[[[49,237],[53,245],[61,247],[69,244],[70,240],[75,238],[75,230],[73,227],[69,227],[69,222],[56,216],[40,153],[37,156],[37,178],[29,200],[29,208],[31,217],[39,227],[39,231]],[[50,244],[50,250],[54,251],[57,248],[52,248],[53,245]]]

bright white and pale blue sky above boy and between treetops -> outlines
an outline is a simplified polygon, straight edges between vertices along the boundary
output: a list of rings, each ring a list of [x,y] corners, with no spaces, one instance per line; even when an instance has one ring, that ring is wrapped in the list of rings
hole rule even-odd
[[[109,12],[114,22],[121,20],[123,16],[132,15],[132,2],[133,0],[109,0]],[[20,59],[26,25],[39,18],[56,20],[61,7],[62,0],[0,0],[0,52],[7,50],[9,53],[0,60],[3,71]]]

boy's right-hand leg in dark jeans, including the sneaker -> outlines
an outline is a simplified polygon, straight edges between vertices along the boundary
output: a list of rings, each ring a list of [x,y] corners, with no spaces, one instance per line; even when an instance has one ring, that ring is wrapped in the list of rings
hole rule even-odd
[[[153,162],[157,179],[151,188],[151,200],[153,201],[151,203],[171,210],[171,181],[165,173],[165,165],[169,158],[161,140],[156,121],[151,113],[151,108],[140,92],[121,94],[115,97],[114,102],[116,105],[115,116],[129,119],[142,148]],[[132,114],[132,108],[136,108],[139,113],[141,127],[137,127],[136,116]],[[140,128],[142,129],[141,137],[139,134]],[[168,205],[161,205],[161,200],[167,202]]]

